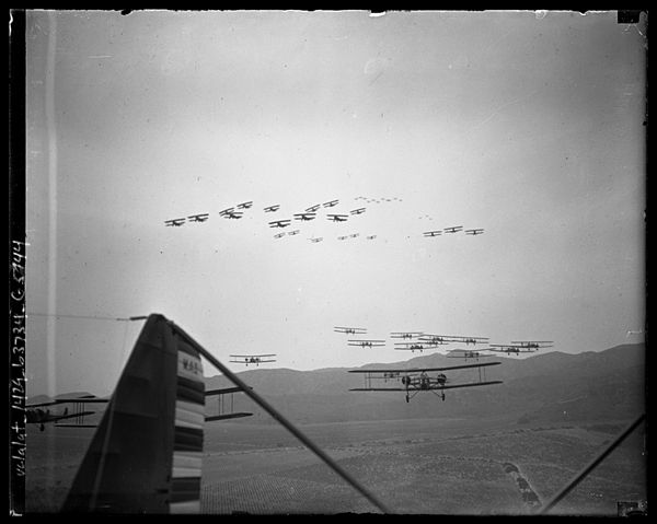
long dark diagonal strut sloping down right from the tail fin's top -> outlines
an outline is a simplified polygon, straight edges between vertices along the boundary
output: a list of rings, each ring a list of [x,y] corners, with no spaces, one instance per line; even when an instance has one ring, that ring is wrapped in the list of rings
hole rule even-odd
[[[255,393],[249,385],[246,385],[238,375],[235,375],[232,371],[226,368],[219,360],[217,360],[210,352],[208,352],[203,346],[200,346],[196,340],[194,340],[189,335],[187,335],[180,326],[175,325],[170,321],[171,326],[175,329],[178,335],[189,343],[201,357],[204,357],[210,364],[217,368],[221,373],[223,373],[235,386],[242,388],[245,395],[257,404],[261,408],[263,408],[267,414],[269,414],[274,420],[279,422],[285,429],[287,429],[290,433],[292,433],[297,439],[299,439],[306,447],[312,451],[318,457],[320,457],[331,469],[333,469],[337,475],[339,475],[343,479],[345,479],[354,489],[360,492],[367,500],[369,500],[372,504],[374,504],[379,510],[383,513],[391,513],[391,511],[380,501],[378,500],[369,490],[367,490],[358,480],[356,480],[351,475],[349,475],[346,470],[344,470],[333,458],[331,458],[324,451],[319,447],[314,442],[312,442],[306,434],[303,434],[297,427],[295,427],[289,420],[287,420],[283,415],[280,415],[269,403],[267,403],[263,397],[261,397],[257,393]]]

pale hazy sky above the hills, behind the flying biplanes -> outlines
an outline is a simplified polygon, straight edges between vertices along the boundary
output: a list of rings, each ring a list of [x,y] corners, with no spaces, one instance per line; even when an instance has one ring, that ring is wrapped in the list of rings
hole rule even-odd
[[[615,12],[30,12],[28,394],[110,393],[143,324],[46,314],[298,370],[397,330],[643,340],[646,44]]]

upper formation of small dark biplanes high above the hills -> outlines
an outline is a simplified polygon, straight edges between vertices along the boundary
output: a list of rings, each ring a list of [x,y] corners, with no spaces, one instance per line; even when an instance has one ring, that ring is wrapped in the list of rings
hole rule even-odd
[[[393,201],[401,202],[402,201],[402,199],[397,198],[397,197],[368,198],[365,196],[355,197],[354,200],[364,200],[368,205],[369,203],[377,205],[377,203],[382,203],[382,202],[393,202]],[[342,212],[332,211],[333,208],[336,208],[339,203],[341,203],[339,199],[333,199],[333,200],[327,200],[325,202],[314,203],[312,206],[304,208],[303,210],[292,212],[291,216],[281,218],[279,220],[269,220],[267,222],[267,225],[269,228],[274,228],[274,229],[278,229],[278,228],[283,229],[283,228],[289,226],[292,223],[292,221],[312,222],[320,217],[319,216],[320,210],[324,210],[324,209],[331,211],[331,212],[325,212],[325,219],[328,222],[334,222],[334,223],[349,222],[349,224],[354,223],[354,224],[358,225],[359,224],[358,216],[364,214],[367,211],[367,207],[346,206]],[[240,220],[245,216],[244,214],[245,211],[253,208],[253,206],[254,206],[254,202],[252,200],[245,201],[245,202],[240,202],[240,203],[233,205],[232,207],[229,207],[229,208],[226,208],[226,209],[219,211],[218,214],[219,214],[219,217],[227,219],[227,220]],[[280,203],[268,205],[268,206],[263,207],[262,209],[263,209],[264,213],[278,213],[279,210],[281,209],[281,205]],[[427,214],[425,217],[429,217],[429,216]],[[185,223],[206,222],[209,220],[209,218],[210,218],[210,213],[208,213],[208,212],[191,214],[187,217],[168,219],[164,221],[164,225],[168,228],[180,228],[180,226],[184,225]],[[420,218],[423,218],[423,217],[420,217]],[[433,220],[433,219],[430,219],[430,220]],[[463,225],[450,225],[450,226],[442,228],[440,230],[425,231],[422,233],[422,235],[425,237],[436,237],[436,236],[442,236],[442,235],[454,234],[454,233],[464,233],[465,235],[476,236],[476,235],[484,234],[484,231],[485,230],[483,228],[464,229]],[[298,234],[299,232],[300,232],[300,230],[296,230],[296,233],[289,233],[288,235]],[[273,237],[275,240],[279,240],[279,238],[283,238],[284,236],[288,236],[288,235],[276,233],[273,235]],[[349,238],[356,238],[358,236],[360,236],[360,233],[350,233],[350,234],[339,234],[336,236],[336,238],[339,241],[346,241]],[[377,234],[368,234],[368,235],[366,235],[366,238],[368,241],[373,241],[377,238],[377,236],[378,236]],[[316,236],[313,236],[309,240],[312,243],[318,243],[318,242],[321,242],[322,240],[324,240],[324,237],[322,237],[321,240],[316,240],[316,238],[318,238]]]

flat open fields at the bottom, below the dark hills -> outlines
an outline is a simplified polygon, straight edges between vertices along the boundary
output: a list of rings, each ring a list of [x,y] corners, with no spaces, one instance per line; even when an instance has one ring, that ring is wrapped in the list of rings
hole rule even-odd
[[[397,513],[528,514],[627,421],[519,426],[510,419],[420,419],[306,424],[301,430]],[[30,428],[26,510],[61,504],[93,430]],[[553,511],[615,515],[646,499],[636,431]],[[376,509],[274,424],[206,430],[201,511],[342,513]]]

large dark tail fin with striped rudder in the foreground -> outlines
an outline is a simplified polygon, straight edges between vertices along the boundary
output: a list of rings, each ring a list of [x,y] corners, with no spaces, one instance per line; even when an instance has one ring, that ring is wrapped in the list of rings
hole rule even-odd
[[[204,412],[198,351],[149,316],[62,511],[198,512]]]

